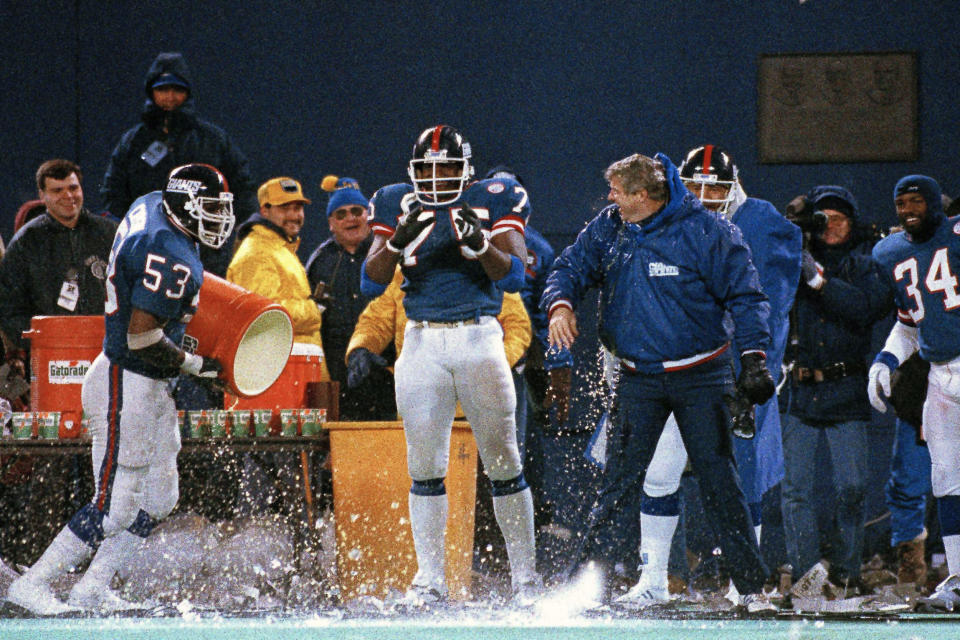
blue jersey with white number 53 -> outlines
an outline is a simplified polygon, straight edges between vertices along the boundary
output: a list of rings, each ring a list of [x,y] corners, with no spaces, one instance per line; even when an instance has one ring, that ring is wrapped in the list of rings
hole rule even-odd
[[[138,198],[117,228],[110,250],[103,352],[114,364],[148,378],[176,375],[176,370],[163,369],[130,353],[130,313],[137,308],[166,321],[163,332],[180,344],[196,313],[202,283],[197,245],[170,224],[161,192]]]

